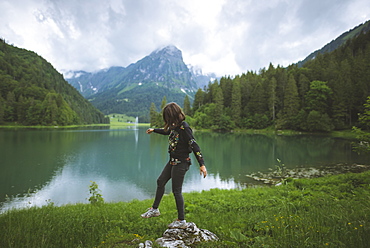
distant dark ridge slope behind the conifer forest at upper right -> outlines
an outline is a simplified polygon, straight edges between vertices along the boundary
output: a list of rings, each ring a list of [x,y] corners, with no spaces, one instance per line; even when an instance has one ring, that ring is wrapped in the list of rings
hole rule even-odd
[[[323,48],[314,51],[313,53],[308,55],[304,60],[299,61],[297,63],[298,67],[302,67],[306,62],[316,58],[317,54],[330,53],[339,48],[340,46],[342,46],[343,44],[345,44],[349,39],[357,37],[361,33],[366,33],[369,30],[370,30],[370,20],[365,22],[364,24],[360,24],[357,27],[341,34],[338,38],[326,44]]]

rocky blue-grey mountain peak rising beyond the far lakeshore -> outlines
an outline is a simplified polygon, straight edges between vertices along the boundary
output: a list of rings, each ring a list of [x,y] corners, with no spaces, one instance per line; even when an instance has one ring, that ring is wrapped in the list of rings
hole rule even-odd
[[[175,46],[157,49],[126,68],[69,72],[66,78],[103,113],[140,116],[141,121],[148,118],[152,102],[160,106],[166,96],[168,102],[182,105],[186,95],[193,98],[197,82],[203,86],[210,80],[199,69],[190,71]]]

